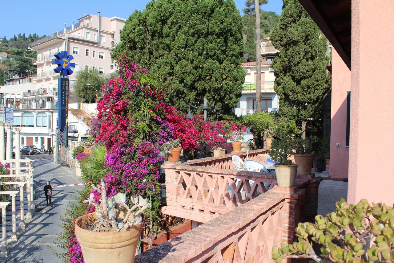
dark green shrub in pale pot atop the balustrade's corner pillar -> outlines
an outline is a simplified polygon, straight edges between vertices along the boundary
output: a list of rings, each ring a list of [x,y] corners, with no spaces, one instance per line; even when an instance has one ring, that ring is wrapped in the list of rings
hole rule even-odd
[[[298,164],[292,163],[288,158],[293,154],[294,137],[289,133],[282,133],[277,137],[282,139],[272,140],[271,149],[268,151],[268,154],[272,160],[278,162],[274,164],[278,186],[293,187],[296,180]]]

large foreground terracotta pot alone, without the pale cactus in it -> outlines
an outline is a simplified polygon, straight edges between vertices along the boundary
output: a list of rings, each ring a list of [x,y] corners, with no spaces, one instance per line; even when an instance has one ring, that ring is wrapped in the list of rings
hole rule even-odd
[[[81,245],[85,263],[134,262],[142,224],[119,232],[93,232],[80,227],[85,216],[97,218],[97,215],[93,212],[75,220],[75,236]]]

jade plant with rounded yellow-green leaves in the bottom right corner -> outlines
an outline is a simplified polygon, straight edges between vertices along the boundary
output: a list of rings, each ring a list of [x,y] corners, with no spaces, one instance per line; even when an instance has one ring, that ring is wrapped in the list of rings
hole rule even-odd
[[[383,203],[362,199],[349,205],[341,198],[336,211],[327,217],[318,215],[315,223],[299,223],[298,242],[272,248],[276,263],[286,258],[312,259],[310,262],[393,262],[394,209]],[[316,253],[312,242],[318,243]]]

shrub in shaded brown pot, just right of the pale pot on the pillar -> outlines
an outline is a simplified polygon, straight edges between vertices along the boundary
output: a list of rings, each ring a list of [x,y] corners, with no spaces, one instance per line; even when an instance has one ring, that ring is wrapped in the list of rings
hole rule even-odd
[[[298,164],[297,173],[299,175],[310,175],[312,172],[315,154],[312,144],[316,143],[317,137],[299,138],[296,140],[294,161]]]

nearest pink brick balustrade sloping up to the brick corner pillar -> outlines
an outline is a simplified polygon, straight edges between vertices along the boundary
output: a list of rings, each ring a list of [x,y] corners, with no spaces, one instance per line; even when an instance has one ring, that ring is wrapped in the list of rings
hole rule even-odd
[[[293,242],[310,177],[273,189],[136,256],[135,262],[272,262],[271,249]]]

